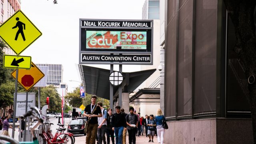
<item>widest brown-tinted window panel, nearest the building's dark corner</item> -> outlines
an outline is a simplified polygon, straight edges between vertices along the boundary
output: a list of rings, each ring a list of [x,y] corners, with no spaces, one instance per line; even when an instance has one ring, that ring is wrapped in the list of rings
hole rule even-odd
[[[217,0],[196,0],[195,113],[216,111]]]

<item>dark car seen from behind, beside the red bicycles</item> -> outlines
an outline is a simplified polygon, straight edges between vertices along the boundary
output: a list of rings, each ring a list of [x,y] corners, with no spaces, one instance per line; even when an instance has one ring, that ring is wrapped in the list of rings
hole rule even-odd
[[[84,134],[84,124],[85,121],[83,119],[71,120],[68,124],[67,132],[72,134]]]

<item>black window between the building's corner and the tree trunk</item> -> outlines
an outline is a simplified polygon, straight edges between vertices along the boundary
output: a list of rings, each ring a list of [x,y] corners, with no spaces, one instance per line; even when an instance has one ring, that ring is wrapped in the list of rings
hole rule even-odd
[[[242,64],[238,58],[238,54],[234,51],[236,44],[236,34],[234,24],[228,16],[228,38],[227,38],[227,111],[248,112],[250,104],[246,99],[242,82],[247,82],[246,75],[242,68]]]

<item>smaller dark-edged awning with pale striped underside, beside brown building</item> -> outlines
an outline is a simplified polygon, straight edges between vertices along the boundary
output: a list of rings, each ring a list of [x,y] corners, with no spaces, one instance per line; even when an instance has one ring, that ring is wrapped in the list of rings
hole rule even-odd
[[[130,97],[130,104],[160,104],[160,88],[143,88]]]

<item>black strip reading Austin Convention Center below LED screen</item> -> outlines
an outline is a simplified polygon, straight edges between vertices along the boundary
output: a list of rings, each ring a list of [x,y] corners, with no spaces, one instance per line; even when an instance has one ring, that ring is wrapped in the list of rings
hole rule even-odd
[[[81,62],[94,64],[151,63],[151,54],[81,54]],[[101,63],[100,63],[101,62]]]

